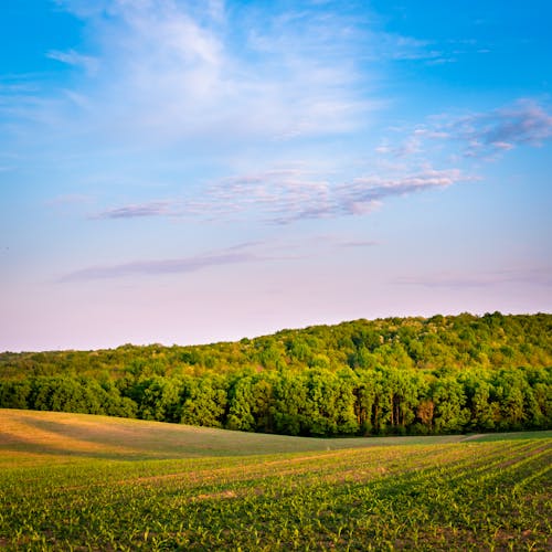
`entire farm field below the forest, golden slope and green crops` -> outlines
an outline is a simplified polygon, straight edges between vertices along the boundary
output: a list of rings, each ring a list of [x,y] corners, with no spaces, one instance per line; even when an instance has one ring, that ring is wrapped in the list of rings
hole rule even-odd
[[[552,432],[312,439],[0,410],[3,550],[550,550]]]

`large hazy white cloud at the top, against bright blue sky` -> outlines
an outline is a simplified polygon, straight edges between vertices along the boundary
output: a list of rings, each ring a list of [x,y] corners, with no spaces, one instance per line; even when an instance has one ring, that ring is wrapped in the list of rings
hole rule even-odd
[[[250,137],[327,136],[358,128],[373,108],[353,62],[361,38],[320,8],[60,3],[94,31],[94,51],[49,56],[92,73],[73,93],[87,98],[92,127],[110,139],[209,138],[214,148]]]

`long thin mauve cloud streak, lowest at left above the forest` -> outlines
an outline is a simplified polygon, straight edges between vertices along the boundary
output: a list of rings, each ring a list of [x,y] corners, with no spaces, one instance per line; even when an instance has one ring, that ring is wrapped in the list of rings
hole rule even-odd
[[[116,265],[98,265],[75,270],[62,276],[60,283],[84,282],[127,276],[156,276],[163,274],[187,274],[215,266],[255,263],[266,258],[247,251],[251,244],[229,247],[205,255],[161,261],[135,261]]]

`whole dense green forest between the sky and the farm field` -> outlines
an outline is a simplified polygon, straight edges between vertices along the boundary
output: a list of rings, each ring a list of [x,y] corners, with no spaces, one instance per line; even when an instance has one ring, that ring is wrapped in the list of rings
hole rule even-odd
[[[0,353],[0,407],[289,435],[552,427],[552,315],[357,320],[193,347]]]

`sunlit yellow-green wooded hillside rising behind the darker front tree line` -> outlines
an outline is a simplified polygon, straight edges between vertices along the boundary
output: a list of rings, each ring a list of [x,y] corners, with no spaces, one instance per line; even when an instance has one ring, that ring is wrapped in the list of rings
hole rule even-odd
[[[148,371],[373,368],[437,370],[552,365],[552,315],[463,314],[354,320],[282,330],[238,342],[131,346],[96,351],[0,353],[0,379],[71,372],[94,378]]]

